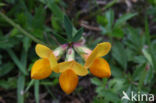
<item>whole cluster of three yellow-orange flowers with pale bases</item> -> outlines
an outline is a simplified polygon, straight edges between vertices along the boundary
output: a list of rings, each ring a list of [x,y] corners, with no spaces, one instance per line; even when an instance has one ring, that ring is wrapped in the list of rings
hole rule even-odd
[[[73,48],[85,60],[84,66],[74,60]],[[110,77],[109,64],[102,58],[111,49],[109,42],[100,43],[93,50],[81,45],[74,45],[73,48],[65,44],[52,51],[42,44],[37,44],[35,50],[40,59],[35,61],[32,66],[31,78],[40,80],[50,76],[52,71],[61,73],[59,77],[60,86],[66,94],[70,94],[78,84],[78,76],[87,75],[88,69],[97,77]],[[65,62],[58,63],[57,61],[66,49],[68,50]]]

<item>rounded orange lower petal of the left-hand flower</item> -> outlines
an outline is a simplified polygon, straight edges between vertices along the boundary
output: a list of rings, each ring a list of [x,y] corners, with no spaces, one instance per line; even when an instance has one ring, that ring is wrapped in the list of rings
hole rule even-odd
[[[32,66],[31,78],[37,80],[44,79],[50,76],[51,72],[49,60],[45,58],[39,59]]]

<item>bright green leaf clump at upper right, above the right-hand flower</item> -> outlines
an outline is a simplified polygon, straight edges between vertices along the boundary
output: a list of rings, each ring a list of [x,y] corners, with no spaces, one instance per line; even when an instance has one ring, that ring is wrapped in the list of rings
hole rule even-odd
[[[97,16],[97,22],[101,24],[102,34],[107,34],[110,37],[122,38],[124,36],[123,26],[125,22],[132,17],[136,16],[136,13],[127,13],[122,15],[116,21],[114,20],[114,11],[108,10],[105,15]]]

